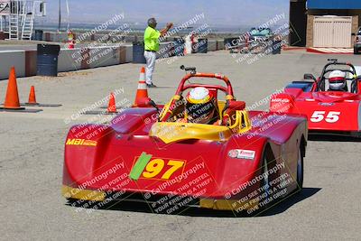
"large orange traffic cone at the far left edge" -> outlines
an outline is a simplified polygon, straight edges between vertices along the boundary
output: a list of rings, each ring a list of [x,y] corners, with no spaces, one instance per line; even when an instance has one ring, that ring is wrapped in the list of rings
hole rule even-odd
[[[9,82],[7,84],[4,109],[20,110],[19,93],[17,90],[16,73],[14,66],[10,69]]]

